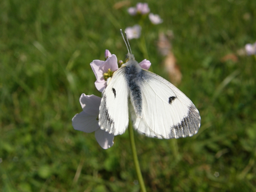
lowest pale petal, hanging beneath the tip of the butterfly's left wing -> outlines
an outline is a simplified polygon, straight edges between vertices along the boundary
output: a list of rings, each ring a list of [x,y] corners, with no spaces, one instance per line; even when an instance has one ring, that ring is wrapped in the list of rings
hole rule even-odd
[[[113,146],[114,135],[109,134],[108,132],[98,129],[95,131],[95,138],[100,144],[100,147],[107,149]]]

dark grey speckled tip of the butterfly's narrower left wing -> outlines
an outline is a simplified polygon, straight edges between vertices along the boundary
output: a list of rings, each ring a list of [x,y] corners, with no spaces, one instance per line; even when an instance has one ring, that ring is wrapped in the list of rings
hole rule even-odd
[[[105,131],[109,133],[115,133],[115,122],[113,118],[108,113],[108,108],[106,104],[106,95],[102,97],[100,104],[100,115],[99,115],[99,124]]]

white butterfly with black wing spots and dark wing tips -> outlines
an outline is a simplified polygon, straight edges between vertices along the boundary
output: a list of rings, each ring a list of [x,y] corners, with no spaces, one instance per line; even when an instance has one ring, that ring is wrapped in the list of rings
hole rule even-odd
[[[126,63],[108,78],[102,92],[102,130],[113,135],[125,132],[129,124],[129,98],[133,127],[148,137],[187,137],[196,134],[200,127],[201,117],[192,101],[161,76],[142,69],[128,49]]]

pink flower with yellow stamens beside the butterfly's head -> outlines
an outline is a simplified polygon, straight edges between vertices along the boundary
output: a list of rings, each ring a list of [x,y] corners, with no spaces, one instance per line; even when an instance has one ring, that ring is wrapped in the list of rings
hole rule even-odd
[[[97,79],[95,81],[95,86],[100,92],[102,92],[107,85],[106,81],[108,77],[111,77],[118,69],[116,55],[108,56],[106,61],[93,60],[90,65]]]

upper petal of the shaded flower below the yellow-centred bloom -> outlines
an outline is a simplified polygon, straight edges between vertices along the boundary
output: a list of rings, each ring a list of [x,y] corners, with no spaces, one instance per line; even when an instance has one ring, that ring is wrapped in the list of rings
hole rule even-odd
[[[88,115],[96,116],[96,118],[99,116],[100,101],[101,98],[95,95],[85,95],[83,93],[80,97],[80,104],[83,111]]]

